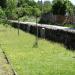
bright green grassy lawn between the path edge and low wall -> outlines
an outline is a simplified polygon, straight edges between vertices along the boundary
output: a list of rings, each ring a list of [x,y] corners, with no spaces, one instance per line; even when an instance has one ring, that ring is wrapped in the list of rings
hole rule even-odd
[[[58,43],[39,39],[34,48],[35,36],[0,25],[0,43],[18,75],[75,75],[75,52]]]

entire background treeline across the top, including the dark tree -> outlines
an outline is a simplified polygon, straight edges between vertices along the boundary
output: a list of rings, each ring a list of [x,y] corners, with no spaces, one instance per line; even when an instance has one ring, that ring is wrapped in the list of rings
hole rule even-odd
[[[69,0],[53,0],[35,2],[34,0],[0,0],[0,18],[35,21],[39,17],[51,12],[53,14],[74,15],[74,5]]]

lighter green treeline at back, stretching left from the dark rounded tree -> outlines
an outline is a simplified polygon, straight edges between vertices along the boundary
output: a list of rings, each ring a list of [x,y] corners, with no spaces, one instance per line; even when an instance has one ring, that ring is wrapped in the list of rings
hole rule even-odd
[[[0,15],[7,16],[8,19],[17,19],[24,16],[40,16],[41,15],[41,1],[34,0],[0,0]],[[44,12],[51,9],[50,1],[43,3]],[[4,14],[5,13],[5,14]]]

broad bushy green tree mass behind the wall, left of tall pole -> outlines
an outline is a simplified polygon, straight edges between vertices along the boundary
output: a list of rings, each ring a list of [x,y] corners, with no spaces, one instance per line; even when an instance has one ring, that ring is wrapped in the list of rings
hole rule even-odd
[[[40,9],[37,6],[37,3],[34,0],[19,0],[18,1],[18,16],[39,16],[41,14]]]

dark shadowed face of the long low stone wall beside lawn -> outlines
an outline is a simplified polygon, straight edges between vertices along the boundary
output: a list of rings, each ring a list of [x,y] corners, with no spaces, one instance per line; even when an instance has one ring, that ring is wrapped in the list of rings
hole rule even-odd
[[[18,23],[12,22],[12,26],[18,28]],[[33,24],[23,24],[20,23],[20,29],[25,32],[29,32],[31,34],[36,35],[37,27]],[[75,32],[64,31],[62,29],[53,29],[53,28],[44,28],[44,37],[41,36],[41,31],[43,26],[38,25],[38,36],[41,38],[45,38],[47,40],[51,40],[54,42],[63,43],[66,48],[74,50],[75,49]]]

